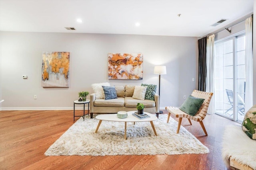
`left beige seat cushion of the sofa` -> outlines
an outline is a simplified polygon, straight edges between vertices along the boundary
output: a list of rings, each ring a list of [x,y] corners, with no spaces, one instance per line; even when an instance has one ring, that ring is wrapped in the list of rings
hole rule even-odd
[[[96,99],[94,101],[94,106],[101,106],[101,107],[124,107],[124,98],[117,98],[117,99]]]

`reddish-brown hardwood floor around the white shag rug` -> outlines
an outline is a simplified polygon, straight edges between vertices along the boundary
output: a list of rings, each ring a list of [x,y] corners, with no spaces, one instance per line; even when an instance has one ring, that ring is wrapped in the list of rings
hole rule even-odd
[[[82,110],[76,114],[81,115]],[[182,120],[182,126],[210,149],[209,154],[45,156],[48,147],[75,121],[72,110],[0,111],[0,169],[225,170],[228,168],[221,158],[222,133],[226,125],[240,126],[218,115],[207,115],[205,136],[198,122],[189,125],[186,119]]]

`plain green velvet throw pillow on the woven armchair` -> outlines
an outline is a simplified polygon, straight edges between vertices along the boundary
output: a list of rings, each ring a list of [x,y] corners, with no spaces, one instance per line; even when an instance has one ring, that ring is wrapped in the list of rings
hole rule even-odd
[[[188,96],[185,102],[180,106],[180,110],[185,113],[194,116],[196,112],[200,109],[204,102],[204,99],[195,98],[193,96]]]

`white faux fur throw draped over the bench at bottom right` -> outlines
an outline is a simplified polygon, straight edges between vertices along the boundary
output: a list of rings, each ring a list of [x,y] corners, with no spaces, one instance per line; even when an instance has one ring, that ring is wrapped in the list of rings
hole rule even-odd
[[[256,141],[250,139],[242,127],[228,125],[225,128],[222,142],[222,159],[227,167],[230,166],[229,157],[243,165],[256,170]]]

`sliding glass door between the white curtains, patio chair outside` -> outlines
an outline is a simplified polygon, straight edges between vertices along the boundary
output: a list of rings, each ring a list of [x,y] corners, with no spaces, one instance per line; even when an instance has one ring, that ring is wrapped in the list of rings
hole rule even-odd
[[[215,43],[216,114],[234,121],[244,118],[245,35]]]

